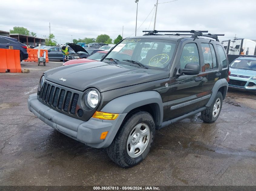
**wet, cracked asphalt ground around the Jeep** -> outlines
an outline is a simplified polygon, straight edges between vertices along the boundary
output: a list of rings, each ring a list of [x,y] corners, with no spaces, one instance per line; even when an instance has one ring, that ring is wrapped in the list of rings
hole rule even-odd
[[[29,112],[42,73],[61,65],[0,73],[0,185],[256,185],[254,94],[229,91],[213,124],[197,114],[157,131],[145,160],[123,169]]]

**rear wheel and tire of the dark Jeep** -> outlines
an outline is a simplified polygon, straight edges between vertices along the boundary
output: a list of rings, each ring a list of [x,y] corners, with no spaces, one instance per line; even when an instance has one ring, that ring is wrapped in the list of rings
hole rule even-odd
[[[218,116],[221,113],[223,96],[220,91],[214,98],[214,102],[211,104],[210,109],[204,110],[201,112],[201,118],[206,123],[213,123],[218,119]]]

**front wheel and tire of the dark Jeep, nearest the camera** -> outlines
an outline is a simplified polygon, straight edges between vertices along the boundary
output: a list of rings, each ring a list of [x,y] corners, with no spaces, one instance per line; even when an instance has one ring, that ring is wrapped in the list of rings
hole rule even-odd
[[[132,113],[125,119],[107,148],[108,156],[123,168],[133,167],[147,156],[154,136],[153,117],[145,111]]]

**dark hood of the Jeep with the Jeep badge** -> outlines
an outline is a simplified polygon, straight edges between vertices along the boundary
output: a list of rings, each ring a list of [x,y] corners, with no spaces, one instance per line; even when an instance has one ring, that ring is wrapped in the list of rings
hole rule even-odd
[[[53,83],[80,91],[94,87],[100,92],[169,78],[169,76],[168,71],[105,62],[67,65],[45,72],[45,79]],[[59,80],[61,78],[65,81]]]

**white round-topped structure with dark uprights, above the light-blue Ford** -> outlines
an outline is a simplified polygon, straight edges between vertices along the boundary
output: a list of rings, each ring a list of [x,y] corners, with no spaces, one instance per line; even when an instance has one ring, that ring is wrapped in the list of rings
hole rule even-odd
[[[256,55],[256,40],[234,39],[221,42],[227,54]]]

